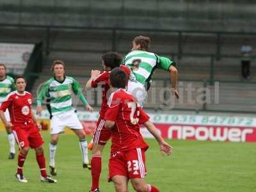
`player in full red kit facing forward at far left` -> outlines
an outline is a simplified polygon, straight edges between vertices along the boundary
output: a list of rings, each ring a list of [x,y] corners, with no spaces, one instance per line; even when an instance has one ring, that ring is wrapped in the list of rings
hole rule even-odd
[[[55,183],[46,173],[44,157],[44,141],[38,129],[41,125],[36,121],[35,115],[31,111],[32,95],[25,91],[26,80],[22,76],[15,78],[15,87],[17,91],[7,95],[0,107],[0,118],[5,127],[12,128],[15,140],[19,145],[20,154],[18,157],[18,168],[16,178],[19,182],[28,182],[23,176],[23,165],[30,148],[35,149],[36,161],[40,168],[41,180],[44,182]],[[8,122],[4,116],[4,111],[10,111],[11,122]]]

